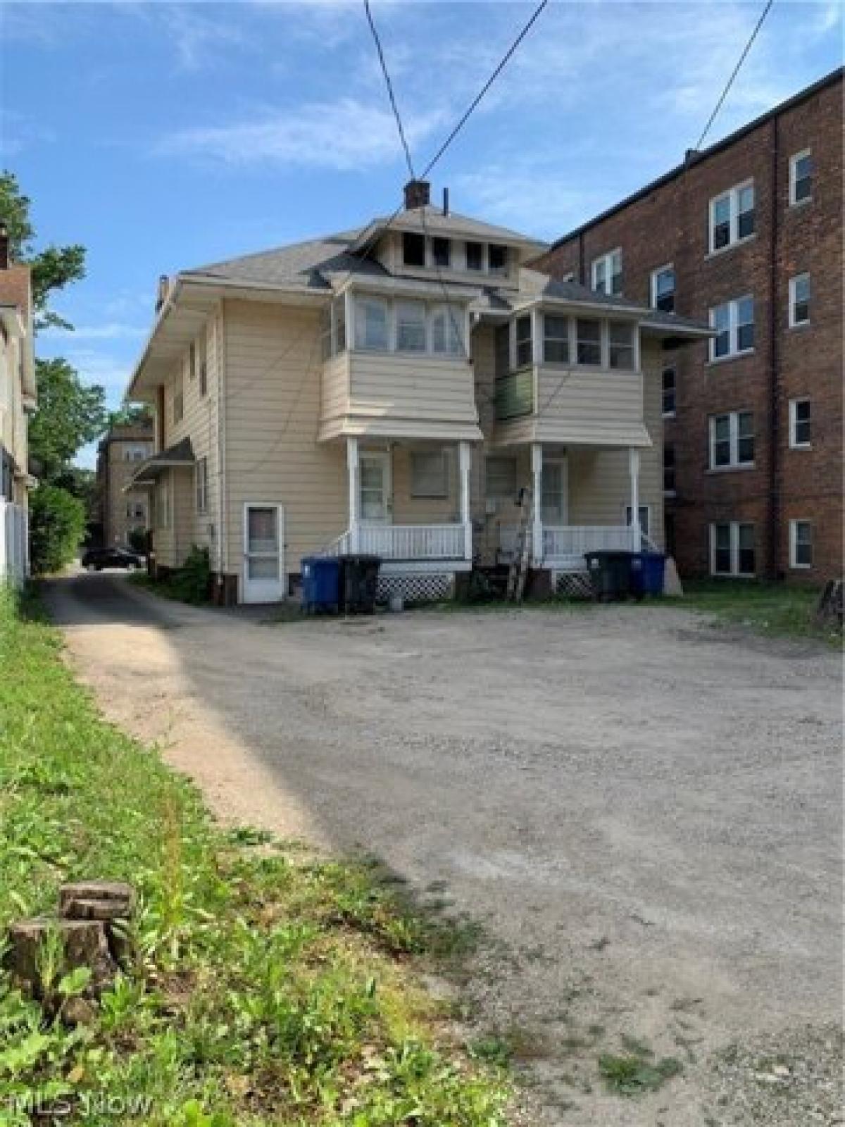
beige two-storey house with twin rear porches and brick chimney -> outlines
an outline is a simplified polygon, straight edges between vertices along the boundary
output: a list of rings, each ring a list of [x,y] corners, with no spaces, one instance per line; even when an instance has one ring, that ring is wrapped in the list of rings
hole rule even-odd
[[[443,595],[513,551],[524,487],[535,582],[662,543],[664,348],[710,332],[525,268],[543,249],[412,181],[392,220],[162,278],[126,393],[157,566],[205,545],[221,601],[263,602],[374,552],[382,595]]]

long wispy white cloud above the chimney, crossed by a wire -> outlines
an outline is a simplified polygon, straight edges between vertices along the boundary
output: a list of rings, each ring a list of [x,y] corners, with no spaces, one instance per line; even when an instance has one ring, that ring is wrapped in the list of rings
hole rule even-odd
[[[404,122],[409,143],[427,137],[445,121],[445,112],[438,109],[410,114]],[[164,137],[158,151],[226,165],[272,162],[350,171],[393,160],[401,150],[389,109],[346,97],[265,109],[230,125],[180,130]]]

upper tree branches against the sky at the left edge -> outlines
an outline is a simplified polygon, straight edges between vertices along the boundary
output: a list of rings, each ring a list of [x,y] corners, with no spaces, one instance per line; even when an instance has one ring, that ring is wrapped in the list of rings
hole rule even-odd
[[[79,282],[86,274],[86,249],[79,243],[55,247],[52,243],[35,251],[35,229],[29,221],[32,201],[25,196],[14,172],[0,172],[0,222],[9,233],[12,257],[32,267],[35,327],[48,325],[70,329],[64,318],[47,308],[50,295],[63,290],[71,282]]]

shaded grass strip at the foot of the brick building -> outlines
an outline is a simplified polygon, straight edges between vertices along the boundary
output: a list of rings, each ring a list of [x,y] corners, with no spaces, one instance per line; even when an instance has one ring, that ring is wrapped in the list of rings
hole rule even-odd
[[[813,621],[819,600],[815,588],[724,579],[687,583],[684,592],[683,598],[667,600],[666,605],[705,611],[721,622],[758,633],[842,645],[840,631],[818,627]]]

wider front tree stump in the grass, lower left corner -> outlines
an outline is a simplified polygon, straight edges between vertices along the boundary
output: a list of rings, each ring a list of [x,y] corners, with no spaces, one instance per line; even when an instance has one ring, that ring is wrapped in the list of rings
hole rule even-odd
[[[53,935],[59,938],[56,967],[54,980],[45,983],[43,961]],[[35,916],[11,924],[8,938],[9,949],[3,965],[21,987],[41,1001],[55,988],[62,975],[78,967],[90,969],[90,992],[95,994],[114,977],[115,964],[109,955],[106,930],[99,920]]]

